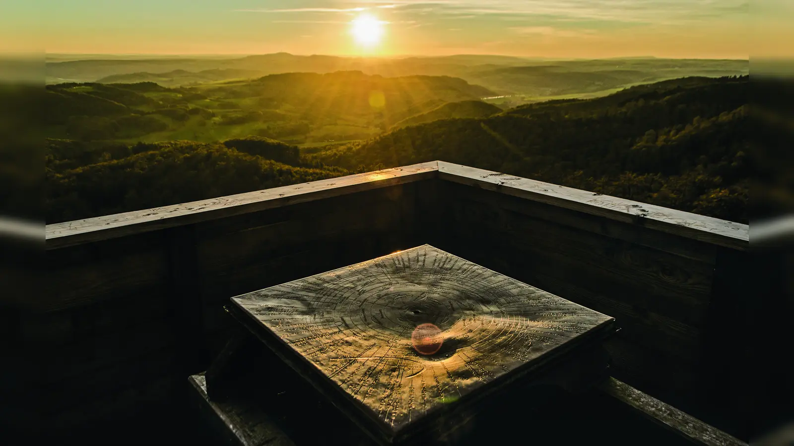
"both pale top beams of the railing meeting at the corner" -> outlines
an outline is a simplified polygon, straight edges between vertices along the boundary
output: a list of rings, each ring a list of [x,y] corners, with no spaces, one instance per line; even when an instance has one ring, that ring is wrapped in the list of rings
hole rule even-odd
[[[642,225],[727,248],[744,251],[749,247],[750,227],[734,221],[444,161],[46,225],[45,246],[47,249],[63,248],[432,178]]]

